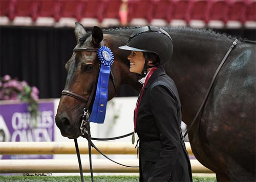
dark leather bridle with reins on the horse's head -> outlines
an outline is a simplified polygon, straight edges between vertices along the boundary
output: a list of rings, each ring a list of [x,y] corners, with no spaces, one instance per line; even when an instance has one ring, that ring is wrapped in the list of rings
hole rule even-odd
[[[103,41],[102,41],[103,42]],[[101,44],[103,44],[101,42]],[[73,51],[94,51],[94,52],[97,52],[99,48],[93,48],[93,47],[75,47],[73,49]],[[98,66],[98,71],[97,71],[97,79],[98,79],[98,76],[99,76],[99,70],[100,70],[100,66],[101,66],[101,63],[99,64]],[[114,89],[115,89],[115,96],[117,95],[117,90],[116,90],[116,85],[115,85],[115,80],[114,80],[114,76],[112,74],[112,71],[110,69],[110,80],[112,81],[113,83],[113,86],[114,86]],[[93,181],[93,170],[92,170],[92,151],[91,151],[91,147],[94,147],[100,154],[102,154],[106,159],[109,159],[111,160],[112,162],[116,163],[116,164],[119,164],[119,165],[122,165],[122,166],[125,166],[125,167],[139,167],[139,166],[127,166],[127,165],[124,165],[124,164],[120,164],[116,161],[113,161],[112,159],[110,159],[109,157],[107,157],[104,153],[102,153],[93,143],[91,140],[100,140],[100,141],[106,141],[106,140],[116,140],[116,139],[120,139],[120,138],[124,138],[124,137],[127,137],[127,136],[130,136],[132,134],[134,134],[133,132],[132,133],[129,133],[129,134],[126,134],[126,135],[123,135],[123,136],[119,136],[119,137],[113,137],[113,138],[91,138],[91,132],[90,132],[90,122],[89,122],[89,118],[90,118],[90,111],[89,111],[89,108],[90,108],[90,105],[91,105],[91,102],[92,102],[92,99],[93,99],[93,96],[94,96],[94,93],[96,91],[96,87],[97,87],[97,82],[95,82],[94,86],[93,86],[93,89],[91,91],[91,94],[89,97],[84,97],[84,96],[81,96],[79,94],[76,94],[70,90],[63,90],[61,92],[62,95],[67,95],[67,96],[70,96],[70,97],[73,97],[73,98],[76,98],[84,103],[86,103],[86,107],[84,107],[83,109],[83,115],[82,115],[82,122],[81,122],[81,126],[80,126],[80,131],[82,133],[82,137],[83,138],[86,138],[88,140],[88,146],[89,146],[89,160],[90,160],[90,171],[91,171],[91,180]],[[76,147],[76,153],[77,153],[77,159],[78,159],[78,164],[79,164],[79,171],[80,171],[80,177],[81,177],[81,181],[83,181],[83,174],[82,174],[82,165],[81,165],[81,159],[80,159],[80,152],[79,152],[79,147],[78,147],[78,143],[77,143],[77,139],[74,139],[74,142],[75,142],[75,147]]]

